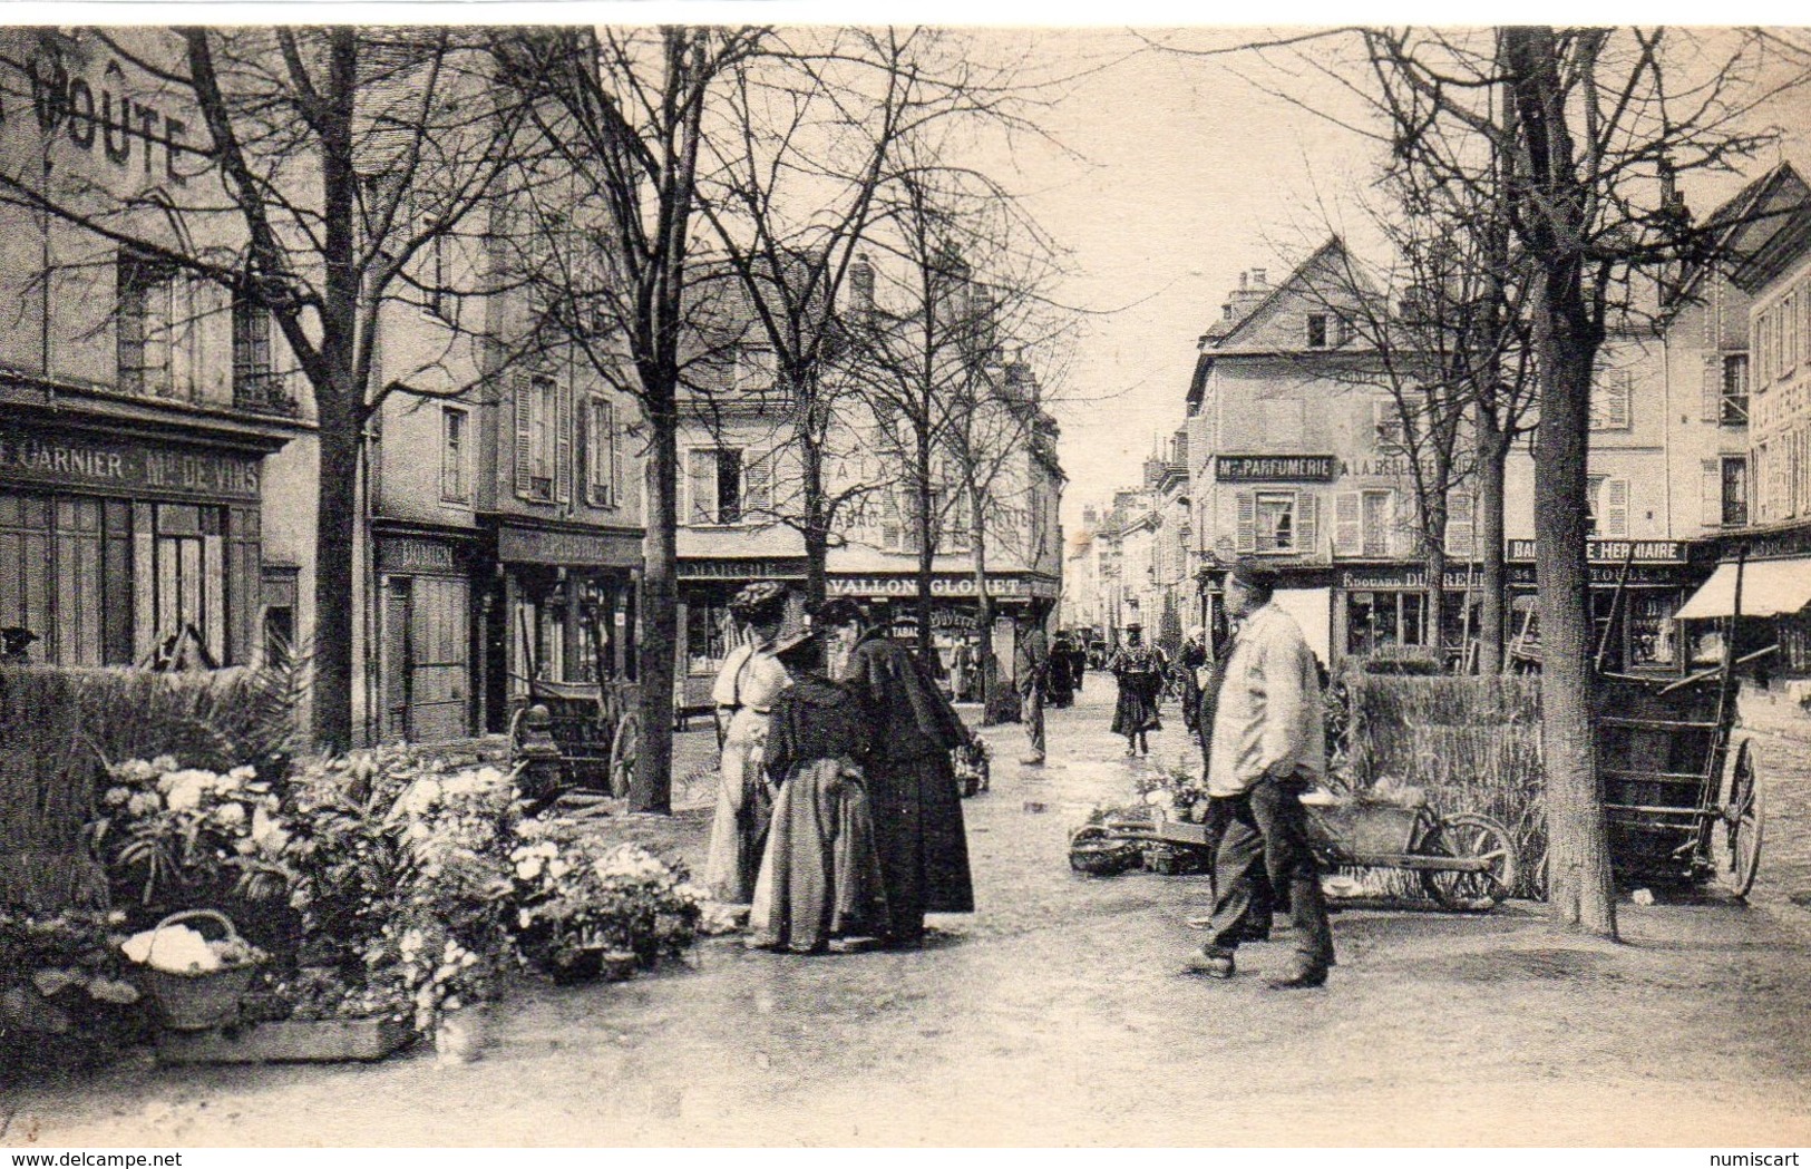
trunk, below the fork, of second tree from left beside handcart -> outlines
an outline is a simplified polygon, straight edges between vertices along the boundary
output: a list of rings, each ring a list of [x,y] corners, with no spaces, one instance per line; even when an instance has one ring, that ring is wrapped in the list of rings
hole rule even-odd
[[[628,784],[628,811],[670,813],[674,802],[674,661],[679,637],[679,411],[648,409],[654,474],[648,481],[641,565],[641,744]]]

